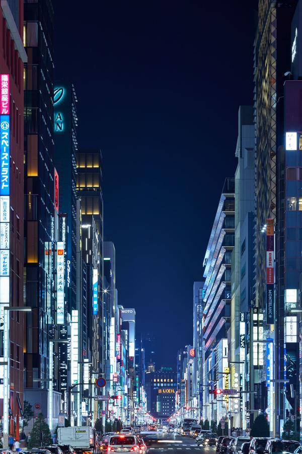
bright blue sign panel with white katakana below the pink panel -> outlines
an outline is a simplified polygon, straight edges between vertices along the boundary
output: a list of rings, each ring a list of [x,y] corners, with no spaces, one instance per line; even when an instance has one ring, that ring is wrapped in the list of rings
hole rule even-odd
[[[0,117],[0,194],[10,195],[10,116]]]

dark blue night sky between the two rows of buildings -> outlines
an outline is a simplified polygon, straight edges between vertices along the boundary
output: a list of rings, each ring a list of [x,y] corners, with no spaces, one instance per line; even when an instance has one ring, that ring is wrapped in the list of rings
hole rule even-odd
[[[192,343],[193,281],[253,99],[255,3],[54,0],[55,74],[77,92],[79,147],[103,153],[118,301],[157,337],[158,367]]]

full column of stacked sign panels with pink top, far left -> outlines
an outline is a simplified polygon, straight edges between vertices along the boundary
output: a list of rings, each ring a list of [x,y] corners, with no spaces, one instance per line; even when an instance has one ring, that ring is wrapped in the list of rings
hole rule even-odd
[[[0,330],[2,363],[9,363],[10,305],[10,77],[0,75]],[[9,433],[9,366],[0,366],[3,433]]]

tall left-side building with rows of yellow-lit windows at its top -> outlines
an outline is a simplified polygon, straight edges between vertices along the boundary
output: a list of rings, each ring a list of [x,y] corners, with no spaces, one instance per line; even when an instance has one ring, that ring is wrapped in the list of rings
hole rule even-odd
[[[100,149],[80,150],[77,153],[77,190],[80,199],[80,215],[77,216],[81,235],[81,254],[86,273],[86,320],[89,355],[80,353],[79,361],[88,358],[92,373],[105,372],[104,305],[103,305],[103,195],[102,195],[102,153]],[[78,257],[77,272],[81,286],[81,260]],[[78,295],[77,311],[83,299]],[[77,314],[75,314],[77,317]],[[82,325],[82,322],[81,322]],[[100,339],[102,341],[100,342]],[[80,387],[80,395],[82,388]],[[97,389],[99,392],[99,388]],[[77,398],[75,398],[77,400]],[[77,413],[81,412],[78,402]],[[101,415],[101,406],[95,405],[94,420]]]

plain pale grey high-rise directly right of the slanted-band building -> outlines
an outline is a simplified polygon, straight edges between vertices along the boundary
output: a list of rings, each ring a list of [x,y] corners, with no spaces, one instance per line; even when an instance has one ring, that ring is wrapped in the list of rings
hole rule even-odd
[[[229,378],[230,387],[234,389],[236,383],[239,383],[238,390],[241,389],[244,393],[241,396],[238,393],[238,399],[228,399],[224,396],[224,400],[228,401],[231,412],[231,426],[243,427],[245,430],[248,423],[250,426],[253,423],[254,409],[257,408],[254,407],[254,383],[258,386],[259,382],[258,376],[254,378],[255,370],[258,369],[254,370],[254,307],[251,304],[255,283],[253,260],[255,127],[252,106],[240,106],[239,108],[238,140],[235,154],[238,158],[238,165],[235,172],[235,248],[232,260],[233,291],[229,333]],[[250,340],[249,344],[247,344],[247,339]],[[257,354],[255,354],[255,367],[257,366]],[[238,382],[236,378],[239,378]],[[247,389],[251,391],[249,394]],[[241,411],[238,411],[239,405],[241,405]],[[248,412],[249,409],[253,409],[251,414]]]

